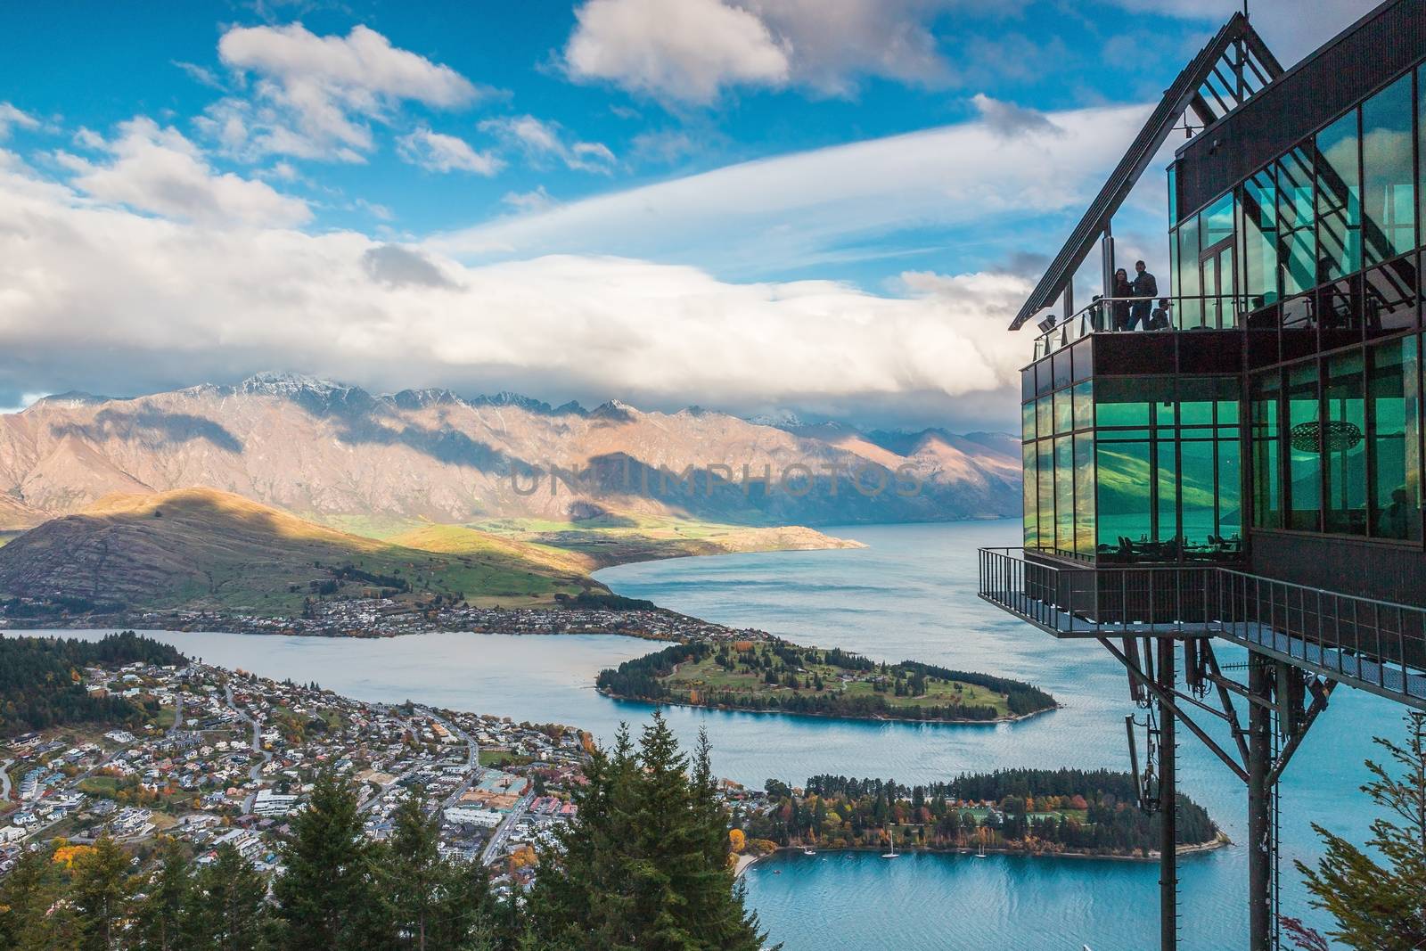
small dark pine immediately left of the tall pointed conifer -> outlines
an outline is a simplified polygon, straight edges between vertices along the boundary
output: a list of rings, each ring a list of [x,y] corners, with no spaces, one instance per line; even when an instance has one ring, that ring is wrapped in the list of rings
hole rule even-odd
[[[231,844],[198,870],[183,913],[185,951],[258,951],[265,947],[267,883]]]

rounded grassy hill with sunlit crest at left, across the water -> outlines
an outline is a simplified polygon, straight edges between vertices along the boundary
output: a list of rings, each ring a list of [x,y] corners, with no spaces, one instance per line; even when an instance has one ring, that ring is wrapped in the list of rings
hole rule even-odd
[[[114,495],[0,548],[0,595],[287,615],[318,595],[529,606],[605,590],[568,559],[466,532],[461,545],[421,550],[212,489]]]

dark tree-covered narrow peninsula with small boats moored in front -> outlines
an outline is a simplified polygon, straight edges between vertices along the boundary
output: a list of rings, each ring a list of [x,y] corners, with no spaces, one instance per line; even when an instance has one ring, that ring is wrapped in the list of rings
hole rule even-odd
[[[814,776],[804,790],[767,783],[769,807],[744,826],[749,840],[824,848],[975,848],[1101,855],[1148,854],[1159,816],[1139,810],[1134,778],[1109,770],[997,770],[944,783]],[[1178,797],[1178,843],[1218,836],[1208,811]]]

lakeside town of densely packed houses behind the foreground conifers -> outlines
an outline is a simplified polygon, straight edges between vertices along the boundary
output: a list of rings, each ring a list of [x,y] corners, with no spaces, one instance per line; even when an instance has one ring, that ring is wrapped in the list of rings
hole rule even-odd
[[[0,751],[0,874],[30,844],[110,836],[137,854],[163,834],[201,865],[231,844],[260,871],[278,867],[287,820],[317,771],[358,790],[365,834],[392,831],[415,790],[442,814],[441,851],[489,867],[509,890],[535,848],[576,814],[588,734],[558,724],[362,703],[315,684],[278,683],[202,663],[87,667],[84,690],[157,710],[141,729],[66,726]]]

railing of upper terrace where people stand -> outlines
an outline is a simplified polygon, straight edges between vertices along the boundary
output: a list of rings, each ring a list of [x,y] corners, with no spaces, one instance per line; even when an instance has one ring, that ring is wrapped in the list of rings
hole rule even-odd
[[[1035,359],[1091,334],[1238,329],[1246,312],[1248,298],[1239,294],[1095,297],[1070,317],[1055,318],[1054,327],[1041,329],[1035,338]]]

